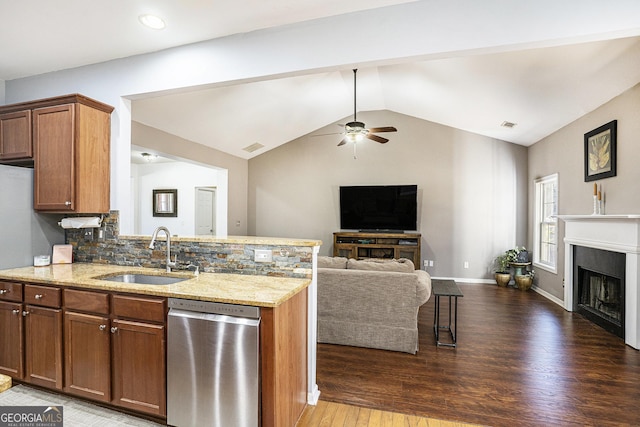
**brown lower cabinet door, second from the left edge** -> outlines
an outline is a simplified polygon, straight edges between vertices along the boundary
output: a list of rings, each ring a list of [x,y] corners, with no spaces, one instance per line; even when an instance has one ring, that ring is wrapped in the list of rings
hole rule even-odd
[[[62,310],[27,305],[25,381],[62,389]]]

